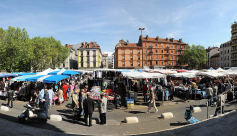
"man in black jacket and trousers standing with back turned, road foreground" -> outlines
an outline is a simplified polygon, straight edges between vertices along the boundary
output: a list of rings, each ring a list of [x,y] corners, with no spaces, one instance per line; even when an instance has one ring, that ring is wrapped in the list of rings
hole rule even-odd
[[[85,125],[88,124],[88,116],[89,116],[89,127],[92,126],[91,119],[92,119],[92,113],[94,111],[94,100],[90,98],[90,93],[87,93],[87,98],[83,101],[83,108],[85,113]]]

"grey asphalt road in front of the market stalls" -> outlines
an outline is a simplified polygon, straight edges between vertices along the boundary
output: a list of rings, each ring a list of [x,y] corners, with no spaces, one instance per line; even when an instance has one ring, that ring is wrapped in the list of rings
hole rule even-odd
[[[7,102],[0,100],[4,105]],[[36,128],[42,128],[47,130],[53,130],[55,132],[62,132],[64,134],[82,134],[82,135],[136,135],[136,134],[149,134],[152,132],[162,131],[166,129],[175,128],[177,126],[185,125],[184,113],[190,105],[200,106],[202,112],[194,113],[193,117],[198,120],[204,120],[207,118],[207,107],[200,105],[199,101],[191,101],[186,103],[179,103],[165,107],[158,107],[158,113],[146,113],[146,107],[140,107],[136,109],[115,109],[112,112],[107,112],[107,125],[95,124],[92,127],[84,126],[83,119],[78,119],[72,116],[72,110],[70,107],[71,99],[64,104],[64,106],[55,106],[49,110],[49,114],[58,114],[63,117],[63,121],[54,122],[48,120],[47,124],[42,124],[37,121],[26,121],[24,125],[32,126]],[[24,105],[26,102],[14,101],[14,108],[8,112],[0,110],[0,118],[18,122],[17,116],[25,110]],[[68,107],[66,107],[66,105]],[[236,103],[231,102],[226,104],[225,111],[231,111],[236,109]],[[152,109],[151,111],[154,111]],[[163,120],[160,118],[161,113],[172,112],[174,117],[172,119]],[[209,107],[209,115],[213,115],[215,107]],[[136,116],[139,119],[139,123],[126,124],[123,122],[125,117]],[[93,118],[98,118],[99,113],[94,112]]]

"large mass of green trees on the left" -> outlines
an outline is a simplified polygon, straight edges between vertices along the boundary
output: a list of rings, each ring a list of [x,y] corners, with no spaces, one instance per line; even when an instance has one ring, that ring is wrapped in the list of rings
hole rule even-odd
[[[68,55],[69,49],[53,37],[30,39],[25,28],[0,28],[0,68],[7,72],[55,68]]]

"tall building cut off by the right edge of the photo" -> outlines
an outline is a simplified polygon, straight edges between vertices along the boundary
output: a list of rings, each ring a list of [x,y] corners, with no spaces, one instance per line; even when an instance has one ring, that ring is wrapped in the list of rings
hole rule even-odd
[[[237,23],[231,25],[231,65],[237,67]]]

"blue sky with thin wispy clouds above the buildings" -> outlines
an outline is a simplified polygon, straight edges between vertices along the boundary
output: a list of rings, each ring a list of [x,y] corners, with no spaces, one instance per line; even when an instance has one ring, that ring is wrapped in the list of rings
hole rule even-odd
[[[0,0],[0,27],[26,28],[30,38],[53,36],[62,45],[96,41],[114,51],[120,39],[183,38],[219,46],[231,38],[236,0]]]

